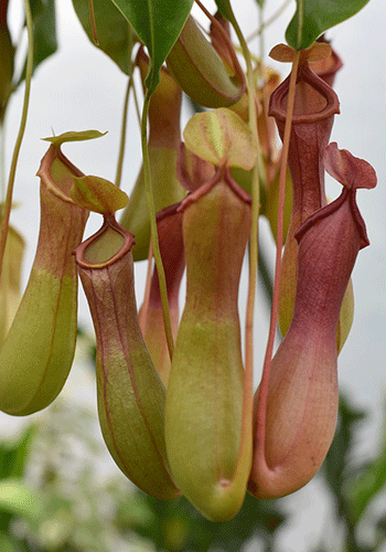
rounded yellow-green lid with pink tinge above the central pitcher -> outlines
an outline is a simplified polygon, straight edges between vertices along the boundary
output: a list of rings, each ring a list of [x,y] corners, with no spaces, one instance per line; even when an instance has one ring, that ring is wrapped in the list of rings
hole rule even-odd
[[[244,120],[230,109],[219,107],[194,115],[183,132],[186,148],[213,164],[255,166],[257,149]]]

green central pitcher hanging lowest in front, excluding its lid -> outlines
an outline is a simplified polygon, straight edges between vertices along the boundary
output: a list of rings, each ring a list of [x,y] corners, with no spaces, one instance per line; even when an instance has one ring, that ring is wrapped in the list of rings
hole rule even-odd
[[[168,384],[165,440],[176,485],[213,521],[237,513],[249,475],[232,485],[244,380],[237,297],[249,231],[250,205],[222,180],[183,211],[186,302]]]

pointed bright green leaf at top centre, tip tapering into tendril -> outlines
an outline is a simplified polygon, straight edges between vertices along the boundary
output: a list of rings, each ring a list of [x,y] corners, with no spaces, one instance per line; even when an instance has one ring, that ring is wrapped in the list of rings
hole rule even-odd
[[[151,65],[146,81],[149,94],[192,9],[193,0],[111,0],[148,49]]]

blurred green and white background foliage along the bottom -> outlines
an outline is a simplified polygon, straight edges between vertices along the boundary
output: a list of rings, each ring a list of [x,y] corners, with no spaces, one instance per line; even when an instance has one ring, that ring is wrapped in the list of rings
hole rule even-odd
[[[87,341],[82,332],[79,339]],[[84,349],[93,381],[93,343]],[[277,537],[292,516],[285,499],[247,495],[232,521],[214,523],[184,498],[148,497],[118,469],[106,471],[97,415],[87,405],[61,396],[29,422],[0,443],[1,552],[280,552]],[[378,500],[385,446],[357,460],[356,435],[365,422],[366,413],[341,396],[335,438],[318,475],[330,495],[334,543],[325,548],[321,535],[317,549],[303,552],[385,550],[386,508]]]

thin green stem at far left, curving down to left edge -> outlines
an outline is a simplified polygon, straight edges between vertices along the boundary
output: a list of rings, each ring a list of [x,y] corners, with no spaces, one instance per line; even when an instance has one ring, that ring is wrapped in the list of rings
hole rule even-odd
[[[3,219],[2,219],[2,223],[1,223],[0,279],[1,279],[1,270],[2,270],[2,261],[4,257],[6,243],[7,243],[7,236],[8,236],[8,227],[9,227],[9,220],[10,220],[10,214],[11,214],[11,206],[12,206],[14,178],[15,178],[15,173],[17,173],[17,166],[18,166],[21,142],[23,140],[25,126],[26,126],[26,116],[28,116],[29,105],[30,105],[31,79],[32,79],[32,72],[33,72],[33,23],[32,23],[31,6],[30,6],[29,0],[24,0],[24,10],[25,10],[26,32],[28,32],[28,41],[29,41],[29,49],[28,49],[28,55],[26,55],[26,70],[25,70],[25,88],[24,88],[23,109],[22,109],[22,115],[21,115],[21,120],[20,120],[19,132],[18,132],[15,145],[14,145],[14,149],[13,149],[13,156],[12,156],[12,161],[11,161],[11,168],[10,168],[10,174],[9,174],[8,188],[7,188],[7,195],[6,195],[6,202],[4,202]]]

